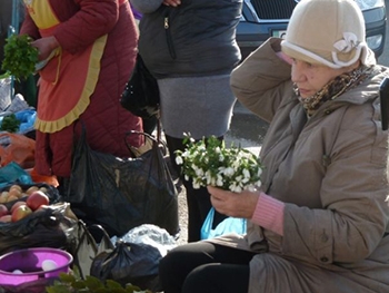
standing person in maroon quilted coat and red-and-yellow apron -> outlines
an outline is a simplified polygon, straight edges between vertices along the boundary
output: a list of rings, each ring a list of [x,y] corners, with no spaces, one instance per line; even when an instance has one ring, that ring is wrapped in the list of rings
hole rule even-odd
[[[124,134],[142,130],[120,95],[134,66],[138,32],[126,0],[24,0],[21,35],[47,65],[39,71],[36,170],[68,178],[81,120],[94,150],[131,154]],[[78,126],[74,128],[74,124]],[[129,143],[138,147],[141,137]]]

